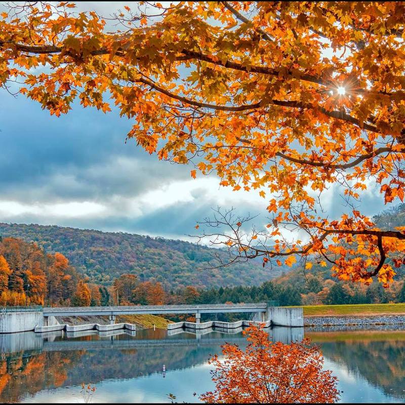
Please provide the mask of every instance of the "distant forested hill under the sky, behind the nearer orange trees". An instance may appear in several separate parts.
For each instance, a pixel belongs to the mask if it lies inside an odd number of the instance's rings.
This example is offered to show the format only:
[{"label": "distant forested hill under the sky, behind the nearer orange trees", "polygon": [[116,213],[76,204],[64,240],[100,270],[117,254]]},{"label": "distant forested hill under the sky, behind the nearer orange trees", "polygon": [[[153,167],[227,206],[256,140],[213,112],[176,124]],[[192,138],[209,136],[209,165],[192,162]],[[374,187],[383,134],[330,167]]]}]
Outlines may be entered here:
[{"label": "distant forested hill under the sky, behind the nearer orange trees", "polygon": [[60,252],[79,272],[88,275],[91,282],[106,286],[128,272],[137,274],[140,281],[159,281],[168,291],[189,285],[216,288],[260,285],[281,274],[281,269],[263,269],[260,261],[197,270],[217,250],[182,240],[6,223],[0,223],[0,236],[34,241],[46,252]]}]

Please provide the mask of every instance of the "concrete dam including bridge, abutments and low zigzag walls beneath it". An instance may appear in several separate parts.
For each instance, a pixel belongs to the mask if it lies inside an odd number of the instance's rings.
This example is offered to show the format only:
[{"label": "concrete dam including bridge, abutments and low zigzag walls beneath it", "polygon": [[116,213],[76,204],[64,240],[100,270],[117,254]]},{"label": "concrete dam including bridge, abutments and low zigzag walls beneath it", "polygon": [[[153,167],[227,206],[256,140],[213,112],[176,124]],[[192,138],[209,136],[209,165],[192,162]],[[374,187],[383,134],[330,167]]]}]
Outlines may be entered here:
[{"label": "concrete dam including bridge, abutments and low zigzag walls beneath it", "polygon": [[[200,322],[201,313],[253,313],[252,320],[237,322]],[[16,332],[53,332],[65,330],[73,332],[77,329],[108,331],[116,329],[135,330],[135,326],[127,323],[116,324],[116,315],[131,314],[194,314],[195,322],[177,322],[168,326],[168,329],[195,329],[208,328],[232,329],[247,326],[251,321],[262,323],[265,327],[303,327],[304,318],[300,307],[274,307],[267,303],[251,304],[201,304],[201,305],[133,305],[109,307],[3,307],[0,308],[0,334]],[[108,315],[110,325],[89,324],[88,326],[60,325],[55,316],[83,316]]]}]

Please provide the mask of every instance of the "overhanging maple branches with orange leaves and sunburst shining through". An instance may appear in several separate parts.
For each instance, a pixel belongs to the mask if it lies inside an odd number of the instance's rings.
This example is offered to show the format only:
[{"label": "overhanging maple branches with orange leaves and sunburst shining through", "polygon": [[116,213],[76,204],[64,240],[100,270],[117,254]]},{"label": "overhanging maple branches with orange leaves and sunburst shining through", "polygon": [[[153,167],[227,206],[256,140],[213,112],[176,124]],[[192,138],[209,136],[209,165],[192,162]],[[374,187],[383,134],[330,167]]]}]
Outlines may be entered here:
[{"label": "overhanging maple branches with orange leaves and sunburst shining through", "polygon": [[[115,104],[149,153],[257,190],[273,216],[264,230],[208,221],[231,227],[216,239],[233,255],[221,265],[316,260],[388,286],[405,233],[354,205],[370,186],[404,198],[404,14],[403,2],[140,2],[111,31],[70,3],[17,4],[0,20],[0,84],[57,116],[75,99]],[[334,184],[353,207],[340,218],[319,215]]]}]

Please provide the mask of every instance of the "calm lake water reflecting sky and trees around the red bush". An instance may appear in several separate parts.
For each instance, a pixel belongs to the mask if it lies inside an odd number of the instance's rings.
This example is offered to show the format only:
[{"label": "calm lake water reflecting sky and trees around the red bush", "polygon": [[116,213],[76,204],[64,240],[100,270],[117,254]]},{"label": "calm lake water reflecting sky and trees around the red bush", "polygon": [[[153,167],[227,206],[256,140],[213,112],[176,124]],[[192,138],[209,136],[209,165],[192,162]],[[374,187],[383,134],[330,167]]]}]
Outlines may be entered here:
[{"label": "calm lake water reflecting sky and trees around the red bush", "polygon": [[[304,334],[321,346],[325,368],[339,378],[342,402],[405,400],[405,331],[270,330],[285,343]],[[198,394],[214,388],[207,359],[225,341],[246,346],[240,331],[0,335],[0,402],[83,403],[82,382],[97,387],[93,402],[170,402],[169,393],[178,402],[198,402]]]}]

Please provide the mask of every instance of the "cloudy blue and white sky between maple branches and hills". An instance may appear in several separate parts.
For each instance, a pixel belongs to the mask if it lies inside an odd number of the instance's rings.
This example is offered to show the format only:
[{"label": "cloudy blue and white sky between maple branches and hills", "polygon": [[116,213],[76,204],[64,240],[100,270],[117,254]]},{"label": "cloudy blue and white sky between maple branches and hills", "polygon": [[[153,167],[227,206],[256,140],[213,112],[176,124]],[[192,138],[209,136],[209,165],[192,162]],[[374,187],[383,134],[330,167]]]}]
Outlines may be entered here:
[{"label": "cloudy blue and white sky between maple branches and hills", "polygon": [[[115,10],[131,2],[117,2]],[[111,3],[81,3],[102,15]],[[78,103],[59,118],[24,96],[0,89],[0,222],[37,223],[103,231],[124,231],[190,239],[196,221],[211,208],[235,207],[238,214],[260,214],[267,223],[267,200],[258,191],[233,192],[219,187],[215,175],[197,174],[193,167],[159,161],[125,143],[131,121],[117,109],[104,114]],[[323,195],[323,208],[345,210],[341,190]],[[373,184],[360,209],[373,215],[384,209]],[[194,231],[194,232],[193,232]]]}]

